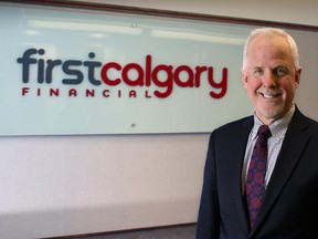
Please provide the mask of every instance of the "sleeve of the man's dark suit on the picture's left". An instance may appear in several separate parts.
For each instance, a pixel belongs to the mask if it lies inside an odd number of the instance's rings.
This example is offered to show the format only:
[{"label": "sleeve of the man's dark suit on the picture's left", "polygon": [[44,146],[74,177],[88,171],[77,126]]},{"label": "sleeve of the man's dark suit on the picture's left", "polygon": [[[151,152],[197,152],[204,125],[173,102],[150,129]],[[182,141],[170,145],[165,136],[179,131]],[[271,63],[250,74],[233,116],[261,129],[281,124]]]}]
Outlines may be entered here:
[{"label": "sleeve of the man's dark suit on the picture's left", "polygon": [[210,137],[204,166],[203,187],[199,208],[195,239],[220,238],[221,217],[216,185],[214,137],[215,133],[213,132]]}]

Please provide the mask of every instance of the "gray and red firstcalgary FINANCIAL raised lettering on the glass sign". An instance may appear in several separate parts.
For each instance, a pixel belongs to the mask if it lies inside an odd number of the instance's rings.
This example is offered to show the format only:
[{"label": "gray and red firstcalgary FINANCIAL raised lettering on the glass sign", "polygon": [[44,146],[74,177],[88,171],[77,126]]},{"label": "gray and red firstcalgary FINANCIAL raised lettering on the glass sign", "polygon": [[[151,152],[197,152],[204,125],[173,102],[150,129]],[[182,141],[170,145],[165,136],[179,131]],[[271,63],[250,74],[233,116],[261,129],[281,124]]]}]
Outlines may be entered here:
[{"label": "gray and red firstcalgary FINANCIAL raised lettering on the glass sign", "polygon": [[[96,89],[102,89],[103,97],[124,97],[123,90],[112,92],[114,86],[123,86],[126,90],[127,97],[138,97],[140,87],[144,90],[144,97],[169,97],[173,89],[189,87],[198,89],[203,81],[209,83],[211,90],[209,95],[212,98],[221,98],[227,91],[227,67],[222,69],[222,77],[214,77],[213,66],[198,65],[167,65],[152,63],[152,55],[145,56],[145,63],[120,64],[118,62],[102,63],[94,61],[96,54],[88,53],[86,61],[45,59],[44,49],[28,49],[17,62],[22,65],[22,96],[78,96],[80,90],[76,87],[87,81],[92,87],[86,89],[82,94],[85,97],[95,97]],[[53,79],[54,72],[62,72],[63,79]],[[31,77],[31,72],[35,72],[35,77]],[[35,82],[34,82],[35,81]],[[61,87],[51,87],[49,92],[43,93],[41,86],[51,85],[53,81],[61,82]],[[32,82],[32,87],[26,86]],[[38,85],[34,87],[34,84]],[[71,86],[67,90],[63,86]],[[155,86],[155,90],[153,87]],[[152,90],[151,90],[152,89]],[[66,91],[66,93],[65,93]],[[83,91],[83,90],[82,90]],[[64,94],[62,93],[64,92]]]}]

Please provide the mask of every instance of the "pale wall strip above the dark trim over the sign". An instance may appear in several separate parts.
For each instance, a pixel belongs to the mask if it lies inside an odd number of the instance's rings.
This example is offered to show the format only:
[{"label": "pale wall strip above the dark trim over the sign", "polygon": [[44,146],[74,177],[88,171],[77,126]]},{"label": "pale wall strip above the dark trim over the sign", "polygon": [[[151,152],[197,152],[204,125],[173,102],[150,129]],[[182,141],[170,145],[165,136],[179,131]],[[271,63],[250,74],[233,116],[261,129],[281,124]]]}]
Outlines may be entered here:
[{"label": "pale wall strip above the dark trim over the sign", "polygon": [[317,25],[315,0],[76,0]]}]

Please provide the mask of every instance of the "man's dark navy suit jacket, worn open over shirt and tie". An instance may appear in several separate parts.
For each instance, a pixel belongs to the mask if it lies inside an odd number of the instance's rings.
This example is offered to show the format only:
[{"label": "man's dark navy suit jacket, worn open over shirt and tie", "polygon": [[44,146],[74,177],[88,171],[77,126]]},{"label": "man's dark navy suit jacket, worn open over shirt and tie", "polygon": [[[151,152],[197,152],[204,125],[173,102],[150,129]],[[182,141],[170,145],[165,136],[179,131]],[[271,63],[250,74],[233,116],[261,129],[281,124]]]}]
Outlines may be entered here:
[{"label": "man's dark navy suit jacket, worn open over shirt and tie", "polygon": [[254,228],[242,196],[242,166],[253,116],[210,137],[197,239],[318,238],[318,123],[292,118]]}]

